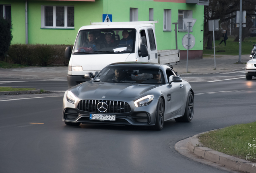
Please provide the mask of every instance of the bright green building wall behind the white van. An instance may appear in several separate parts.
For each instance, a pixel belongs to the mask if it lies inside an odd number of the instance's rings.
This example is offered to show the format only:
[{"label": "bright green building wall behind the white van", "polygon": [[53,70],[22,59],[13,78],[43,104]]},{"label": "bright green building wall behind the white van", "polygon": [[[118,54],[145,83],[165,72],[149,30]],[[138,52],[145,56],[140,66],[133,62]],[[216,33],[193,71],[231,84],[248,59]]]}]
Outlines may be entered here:
[{"label": "bright green building wall behind the white van", "polygon": [[[25,0],[1,0],[0,4],[12,6],[11,44],[25,44]],[[28,43],[29,44],[74,44],[77,32],[81,26],[91,22],[102,22],[102,14],[112,14],[113,22],[128,22],[130,8],[138,8],[138,21],[149,20],[149,8],[154,9],[157,47],[159,50],[175,49],[175,25],[171,32],[163,31],[163,11],[171,9],[171,23],[178,21],[178,10],[192,10],[196,23],[191,34],[196,38],[196,44],[191,50],[203,50],[203,12],[204,6],[174,2],[154,2],[153,0],[95,0],[81,1],[39,1],[28,0]],[[41,28],[41,5],[74,6],[74,29]],[[178,27],[178,26],[177,26]],[[178,32],[178,49],[182,46],[182,38],[187,32]]]}]

